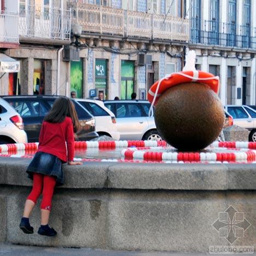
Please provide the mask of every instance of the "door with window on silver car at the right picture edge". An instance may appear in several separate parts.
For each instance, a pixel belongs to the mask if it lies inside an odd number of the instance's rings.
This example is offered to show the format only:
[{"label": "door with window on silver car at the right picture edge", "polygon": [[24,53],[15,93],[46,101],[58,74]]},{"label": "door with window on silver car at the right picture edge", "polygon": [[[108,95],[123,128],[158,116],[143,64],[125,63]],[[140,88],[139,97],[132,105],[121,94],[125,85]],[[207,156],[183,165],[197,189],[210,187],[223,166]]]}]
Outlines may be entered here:
[{"label": "door with window on silver car at the right picture edge", "polygon": [[233,117],[233,124],[246,129],[253,128],[253,119],[242,106],[228,106],[228,113]]}]

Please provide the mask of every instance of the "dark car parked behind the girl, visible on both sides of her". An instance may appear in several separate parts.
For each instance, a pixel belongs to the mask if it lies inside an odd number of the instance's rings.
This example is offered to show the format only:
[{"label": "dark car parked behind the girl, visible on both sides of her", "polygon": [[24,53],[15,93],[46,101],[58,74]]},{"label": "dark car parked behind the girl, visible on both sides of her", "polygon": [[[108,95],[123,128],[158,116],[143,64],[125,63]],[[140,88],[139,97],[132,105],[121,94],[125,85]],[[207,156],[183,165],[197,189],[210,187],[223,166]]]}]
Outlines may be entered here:
[{"label": "dark car parked behind the girl, visible on both sides of her", "polygon": [[[24,120],[24,129],[28,142],[37,142],[44,116],[53,106],[57,96],[28,95],[2,96],[9,102]],[[72,99],[82,130],[77,132],[79,141],[98,137],[95,131],[95,119],[80,103]]]}]

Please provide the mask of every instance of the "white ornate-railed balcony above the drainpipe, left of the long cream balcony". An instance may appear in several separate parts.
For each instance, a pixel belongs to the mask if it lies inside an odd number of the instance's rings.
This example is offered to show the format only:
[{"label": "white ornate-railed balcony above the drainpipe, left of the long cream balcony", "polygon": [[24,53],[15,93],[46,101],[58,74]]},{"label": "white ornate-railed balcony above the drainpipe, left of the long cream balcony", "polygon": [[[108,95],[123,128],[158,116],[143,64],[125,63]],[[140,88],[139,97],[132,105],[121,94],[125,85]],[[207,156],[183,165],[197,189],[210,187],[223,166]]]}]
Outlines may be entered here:
[{"label": "white ornate-railed balcony above the drainpipe, left of the long cream balcony", "polygon": [[20,10],[19,35],[22,38],[70,40],[71,11],[27,5]]}]

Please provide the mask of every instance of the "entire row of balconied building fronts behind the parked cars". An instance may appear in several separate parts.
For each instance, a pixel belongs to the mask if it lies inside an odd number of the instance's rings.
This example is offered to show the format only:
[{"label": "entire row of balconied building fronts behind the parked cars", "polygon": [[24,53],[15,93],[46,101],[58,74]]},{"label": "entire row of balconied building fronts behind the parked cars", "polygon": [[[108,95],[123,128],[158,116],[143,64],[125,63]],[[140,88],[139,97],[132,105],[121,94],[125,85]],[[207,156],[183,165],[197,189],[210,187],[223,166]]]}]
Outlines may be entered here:
[{"label": "entire row of balconied building fronts behind the parked cars", "polygon": [[154,82],[181,71],[188,48],[197,69],[219,75],[223,104],[256,104],[255,1],[0,2],[0,51],[20,61],[20,72],[0,73],[2,95],[145,99]]}]

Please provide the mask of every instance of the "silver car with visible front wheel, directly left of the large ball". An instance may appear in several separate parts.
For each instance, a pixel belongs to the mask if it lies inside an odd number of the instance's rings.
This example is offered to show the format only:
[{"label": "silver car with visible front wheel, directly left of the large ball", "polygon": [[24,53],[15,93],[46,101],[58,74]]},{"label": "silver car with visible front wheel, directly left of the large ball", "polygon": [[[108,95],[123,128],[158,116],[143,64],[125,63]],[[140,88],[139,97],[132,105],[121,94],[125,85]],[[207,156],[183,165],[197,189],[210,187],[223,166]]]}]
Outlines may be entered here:
[{"label": "silver car with visible front wheel, directly left of the large ball", "polygon": [[115,114],[120,139],[161,140],[154,117],[148,117],[150,103],[140,100],[104,101]]}]

